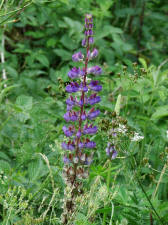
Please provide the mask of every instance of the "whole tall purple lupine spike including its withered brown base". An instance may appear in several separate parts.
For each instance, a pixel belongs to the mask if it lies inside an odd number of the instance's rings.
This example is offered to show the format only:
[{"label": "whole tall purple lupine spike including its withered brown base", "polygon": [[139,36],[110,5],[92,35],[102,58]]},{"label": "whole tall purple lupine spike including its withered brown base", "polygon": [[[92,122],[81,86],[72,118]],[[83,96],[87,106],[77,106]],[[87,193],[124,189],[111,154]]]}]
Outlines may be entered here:
[{"label": "whole tall purple lupine spike including its withered brown base", "polygon": [[64,114],[64,119],[69,125],[63,127],[68,141],[62,143],[65,151],[63,175],[66,183],[63,224],[72,221],[76,196],[83,193],[82,180],[88,177],[89,166],[93,158],[91,149],[96,148],[96,143],[90,140],[90,135],[96,134],[98,130],[94,125],[94,119],[100,114],[100,110],[95,107],[95,104],[101,101],[97,92],[101,91],[102,86],[98,80],[89,81],[88,79],[89,75],[95,77],[102,73],[99,66],[88,66],[89,61],[98,55],[98,50],[92,48],[94,43],[93,18],[90,14],[85,17],[84,34],[82,46],[86,48],[85,55],[81,51],[72,55],[72,60],[83,66],[81,68],[73,67],[68,72],[68,77],[72,81],[66,86],[66,92],[70,95],[66,100],[67,112]]}]

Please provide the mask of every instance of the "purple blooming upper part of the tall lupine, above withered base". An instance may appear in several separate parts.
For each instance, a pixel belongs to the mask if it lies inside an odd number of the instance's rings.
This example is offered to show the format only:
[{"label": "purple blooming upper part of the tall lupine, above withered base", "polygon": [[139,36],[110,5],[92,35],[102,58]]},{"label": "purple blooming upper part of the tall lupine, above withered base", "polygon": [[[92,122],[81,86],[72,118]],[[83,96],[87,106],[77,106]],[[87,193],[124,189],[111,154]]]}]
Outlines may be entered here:
[{"label": "purple blooming upper part of the tall lupine, above withered base", "polygon": [[[93,155],[93,152],[89,153],[88,150],[95,149],[96,143],[91,141],[89,136],[97,133],[98,128],[94,124],[94,120],[100,114],[96,104],[101,101],[98,92],[102,90],[102,86],[95,78],[101,75],[102,69],[99,65],[88,66],[89,61],[98,55],[98,50],[93,48],[93,18],[91,14],[86,14],[85,17],[84,36],[82,46],[86,48],[85,53],[79,51],[72,55],[72,60],[81,66],[72,67],[69,70],[67,75],[71,82],[65,88],[69,97],[66,100],[67,112],[63,117],[68,124],[63,126],[63,132],[69,140],[62,143],[62,148],[65,151],[63,161],[69,166],[73,166],[74,162],[77,166],[81,166],[81,162],[87,165],[92,162],[90,159],[88,163],[88,157]],[[88,77],[91,80],[88,81]],[[88,149],[87,156],[84,152],[85,149]],[[85,160],[82,161],[82,158]],[[68,174],[68,176],[70,175]],[[71,176],[70,180],[73,180]]]}]

